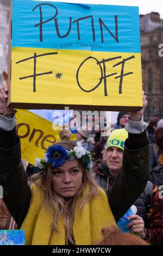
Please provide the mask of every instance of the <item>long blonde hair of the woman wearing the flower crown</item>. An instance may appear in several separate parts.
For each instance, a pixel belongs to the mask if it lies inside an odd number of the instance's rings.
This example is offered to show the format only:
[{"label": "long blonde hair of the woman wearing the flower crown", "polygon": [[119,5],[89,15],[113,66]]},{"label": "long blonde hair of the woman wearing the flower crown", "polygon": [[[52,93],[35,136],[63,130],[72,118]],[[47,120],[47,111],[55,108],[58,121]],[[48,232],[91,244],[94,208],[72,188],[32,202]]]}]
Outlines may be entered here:
[{"label": "long blonde hair of the woman wearing the flower crown", "polygon": [[[71,150],[76,146],[76,144],[72,141],[60,141],[55,143],[54,145],[61,145],[67,150]],[[43,203],[46,205],[47,209],[51,211],[52,214],[55,210],[55,216],[52,223],[52,228],[55,231],[58,231],[58,218],[61,214],[63,215],[63,221],[66,227],[66,245],[68,245],[68,242],[70,242],[72,245],[75,244],[72,233],[72,225],[74,220],[74,209],[76,207],[78,197],[83,193],[83,190],[86,188],[86,186],[89,186],[90,193],[87,194],[84,198],[82,198],[79,202],[79,210],[82,210],[84,204],[86,202],[90,202],[99,193],[99,187],[95,179],[93,178],[92,174],[86,171],[86,168],[80,159],[78,159],[78,161],[83,170],[82,184],[77,194],[70,200],[65,200],[63,197],[59,196],[59,194],[57,194],[53,190],[51,182],[53,168],[52,166],[48,166],[46,170],[44,170],[41,173],[33,175],[30,179],[37,186],[39,186],[41,191],[43,192]]]}]

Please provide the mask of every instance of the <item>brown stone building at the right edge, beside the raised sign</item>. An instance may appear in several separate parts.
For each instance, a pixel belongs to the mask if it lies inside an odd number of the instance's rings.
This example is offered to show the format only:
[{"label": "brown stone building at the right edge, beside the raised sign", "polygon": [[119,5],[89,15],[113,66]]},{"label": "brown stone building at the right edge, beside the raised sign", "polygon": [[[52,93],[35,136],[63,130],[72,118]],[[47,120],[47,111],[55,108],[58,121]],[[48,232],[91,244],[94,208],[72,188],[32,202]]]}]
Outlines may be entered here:
[{"label": "brown stone building at the right edge, beside the raised sign", "polygon": [[140,15],[140,33],[142,81],[148,96],[145,120],[163,118],[163,54],[159,48],[163,44],[163,21],[159,13]]}]

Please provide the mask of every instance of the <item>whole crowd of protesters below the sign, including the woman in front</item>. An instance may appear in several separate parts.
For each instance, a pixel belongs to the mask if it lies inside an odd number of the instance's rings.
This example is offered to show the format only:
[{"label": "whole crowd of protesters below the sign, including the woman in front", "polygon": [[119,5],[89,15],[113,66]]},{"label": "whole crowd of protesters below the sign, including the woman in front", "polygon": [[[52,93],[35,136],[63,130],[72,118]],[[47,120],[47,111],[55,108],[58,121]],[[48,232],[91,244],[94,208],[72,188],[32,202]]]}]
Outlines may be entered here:
[{"label": "whole crowd of protesters below the sign, including the woman in front", "polygon": [[26,175],[3,76],[0,229],[23,229],[26,245],[162,245],[163,119],[143,121],[146,95],[140,111],[118,114],[109,137],[90,141],[81,128],[73,142],[61,131]]}]

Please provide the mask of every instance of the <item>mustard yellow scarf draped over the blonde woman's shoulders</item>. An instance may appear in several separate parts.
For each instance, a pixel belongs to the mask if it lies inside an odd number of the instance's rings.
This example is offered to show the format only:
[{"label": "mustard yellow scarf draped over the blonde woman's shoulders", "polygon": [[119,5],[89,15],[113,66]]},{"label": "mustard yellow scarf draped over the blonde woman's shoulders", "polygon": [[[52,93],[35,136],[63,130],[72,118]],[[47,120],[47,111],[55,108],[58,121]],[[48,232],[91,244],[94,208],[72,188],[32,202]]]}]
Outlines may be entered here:
[{"label": "mustard yellow scarf draped over the blonde woman's shoulders", "polygon": [[[43,193],[33,184],[32,202],[27,216],[22,223],[26,245],[65,245],[66,228],[62,214],[57,221],[57,231],[52,229],[53,215],[43,204]],[[89,186],[83,191],[85,196],[89,193]],[[81,197],[78,198],[77,204]],[[82,210],[74,210],[73,236],[76,245],[92,245],[102,239],[102,228],[116,225],[112,215],[108,198],[105,192],[99,188],[99,194],[90,202],[86,202]],[[55,216],[55,215],[54,215]]]}]

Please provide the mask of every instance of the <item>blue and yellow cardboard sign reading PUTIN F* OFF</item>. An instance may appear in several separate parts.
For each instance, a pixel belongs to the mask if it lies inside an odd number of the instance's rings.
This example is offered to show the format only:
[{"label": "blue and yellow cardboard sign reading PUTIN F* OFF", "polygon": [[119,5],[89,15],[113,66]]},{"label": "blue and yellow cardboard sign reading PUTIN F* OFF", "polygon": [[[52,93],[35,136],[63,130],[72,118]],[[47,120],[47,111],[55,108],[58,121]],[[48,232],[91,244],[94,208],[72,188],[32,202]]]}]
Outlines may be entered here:
[{"label": "blue and yellow cardboard sign reading PUTIN F* OFF", "polygon": [[10,13],[12,107],[142,106],[138,7],[15,0]]}]

